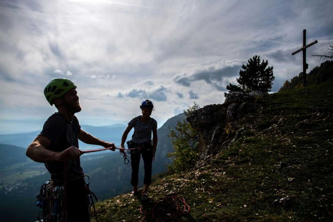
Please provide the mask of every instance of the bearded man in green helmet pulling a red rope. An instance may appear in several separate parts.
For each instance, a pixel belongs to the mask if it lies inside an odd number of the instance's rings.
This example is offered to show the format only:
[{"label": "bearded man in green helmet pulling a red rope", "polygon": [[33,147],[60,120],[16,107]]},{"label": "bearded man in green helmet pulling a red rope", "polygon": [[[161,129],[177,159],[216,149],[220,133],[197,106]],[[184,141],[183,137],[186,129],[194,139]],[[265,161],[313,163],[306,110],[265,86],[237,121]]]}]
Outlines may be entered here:
[{"label": "bearded man in green helmet pulling a red rope", "polygon": [[[44,95],[51,106],[56,106],[58,112],[46,120],[43,130],[27,148],[26,155],[36,162],[45,163],[53,184],[61,186],[67,180],[67,209],[64,209],[66,216],[62,221],[90,221],[87,188],[80,165],[83,151],[79,149],[78,139],[105,148],[113,147],[113,151],[116,146],[81,129],[74,115],[81,111],[81,106],[76,85],[72,81],[65,78],[54,79],[45,87]],[[67,169],[64,169],[65,162],[68,163]],[[64,178],[65,173],[67,178]],[[44,221],[58,219],[45,218]]]}]

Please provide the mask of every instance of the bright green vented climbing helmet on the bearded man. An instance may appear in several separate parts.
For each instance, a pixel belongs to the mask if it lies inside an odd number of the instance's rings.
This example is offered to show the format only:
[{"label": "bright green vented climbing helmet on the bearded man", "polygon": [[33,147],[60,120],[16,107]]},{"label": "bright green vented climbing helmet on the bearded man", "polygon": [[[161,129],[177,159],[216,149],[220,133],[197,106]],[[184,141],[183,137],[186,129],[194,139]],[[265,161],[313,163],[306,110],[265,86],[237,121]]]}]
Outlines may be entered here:
[{"label": "bright green vented climbing helmet on the bearded man", "polygon": [[45,86],[44,95],[46,100],[52,106],[53,99],[62,97],[66,92],[73,88],[76,89],[76,85],[69,79],[53,79]]}]

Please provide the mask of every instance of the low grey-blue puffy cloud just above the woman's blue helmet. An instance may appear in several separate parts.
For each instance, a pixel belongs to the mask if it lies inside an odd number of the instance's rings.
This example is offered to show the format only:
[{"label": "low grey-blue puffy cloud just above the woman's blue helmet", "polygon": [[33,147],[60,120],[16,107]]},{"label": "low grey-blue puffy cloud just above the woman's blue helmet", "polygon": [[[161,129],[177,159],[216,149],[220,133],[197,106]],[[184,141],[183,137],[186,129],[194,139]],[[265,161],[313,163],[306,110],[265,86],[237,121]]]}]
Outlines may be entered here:
[{"label": "low grey-blue puffy cloud just above the woman's blue helmet", "polygon": [[122,98],[122,96],[127,96],[130,98],[142,98],[142,99],[152,99],[156,101],[166,101],[167,96],[166,92],[167,89],[163,85],[158,86],[152,90],[146,89],[131,89],[129,92],[123,94],[121,92],[118,93],[117,97]]}]

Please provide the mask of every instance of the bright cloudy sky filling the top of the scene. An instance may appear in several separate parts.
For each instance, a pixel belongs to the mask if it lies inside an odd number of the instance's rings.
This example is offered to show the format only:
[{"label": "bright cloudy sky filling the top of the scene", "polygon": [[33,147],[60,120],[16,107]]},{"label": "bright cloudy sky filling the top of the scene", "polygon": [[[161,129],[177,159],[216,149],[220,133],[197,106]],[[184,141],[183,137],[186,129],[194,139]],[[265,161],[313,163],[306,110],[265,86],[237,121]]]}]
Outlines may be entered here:
[{"label": "bright cloudy sky filling the top of the scene", "polygon": [[[126,123],[151,99],[159,127],[196,102],[223,103],[226,85],[259,55],[272,92],[333,44],[333,1],[0,1],[0,133],[32,131],[55,112],[53,78],[78,87],[81,124]],[[36,124],[37,125],[36,125]],[[29,125],[30,124],[30,125]]]}]

